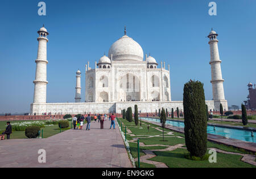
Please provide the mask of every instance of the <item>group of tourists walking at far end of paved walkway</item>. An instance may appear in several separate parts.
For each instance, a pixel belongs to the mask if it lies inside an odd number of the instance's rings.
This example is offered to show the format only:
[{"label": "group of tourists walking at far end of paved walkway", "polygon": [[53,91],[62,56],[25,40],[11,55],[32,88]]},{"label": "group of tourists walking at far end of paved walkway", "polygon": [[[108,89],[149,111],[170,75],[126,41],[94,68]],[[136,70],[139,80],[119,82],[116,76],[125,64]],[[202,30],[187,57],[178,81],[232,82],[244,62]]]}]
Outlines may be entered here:
[{"label": "group of tourists walking at far end of paved walkway", "polygon": [[88,114],[88,116],[85,118],[84,115],[82,115],[81,117],[73,117],[72,118],[72,122],[73,122],[73,126],[74,129],[80,129],[82,130],[82,127],[84,126],[84,120],[86,120],[87,124],[86,124],[86,130],[90,130],[90,123],[94,120],[94,122],[100,122],[101,125],[101,129],[104,129],[104,121],[107,121],[109,119],[109,121],[111,121],[111,125],[109,129],[115,129],[115,118],[116,116],[114,116],[114,114],[112,113],[112,115],[107,115],[107,114],[95,114],[94,117],[92,118],[90,116],[90,114]]}]

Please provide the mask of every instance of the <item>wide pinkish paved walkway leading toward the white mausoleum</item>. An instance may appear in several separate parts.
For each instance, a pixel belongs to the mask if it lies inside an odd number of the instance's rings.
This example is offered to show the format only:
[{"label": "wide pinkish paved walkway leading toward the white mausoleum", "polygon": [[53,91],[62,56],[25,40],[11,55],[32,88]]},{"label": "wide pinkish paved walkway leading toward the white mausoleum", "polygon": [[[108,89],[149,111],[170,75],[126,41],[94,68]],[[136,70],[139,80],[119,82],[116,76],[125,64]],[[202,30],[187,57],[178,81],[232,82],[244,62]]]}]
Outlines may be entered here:
[{"label": "wide pinkish paved walkway leading toward the white mausoleum", "polygon": [[[92,122],[91,130],[68,130],[47,139],[0,141],[0,167],[97,167],[130,168],[119,130],[110,122]],[[46,150],[46,163],[38,163],[38,150]]]}]

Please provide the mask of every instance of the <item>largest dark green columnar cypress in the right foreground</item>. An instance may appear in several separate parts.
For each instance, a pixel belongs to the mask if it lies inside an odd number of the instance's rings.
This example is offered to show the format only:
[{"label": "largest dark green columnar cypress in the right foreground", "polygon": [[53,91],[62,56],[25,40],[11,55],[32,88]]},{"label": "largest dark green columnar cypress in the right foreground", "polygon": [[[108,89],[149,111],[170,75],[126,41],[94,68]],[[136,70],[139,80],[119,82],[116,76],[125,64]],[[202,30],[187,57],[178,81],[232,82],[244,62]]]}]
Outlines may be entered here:
[{"label": "largest dark green columnar cypress in the right foreground", "polygon": [[207,118],[204,85],[190,81],[184,85],[185,144],[191,156],[203,157],[207,152]]}]

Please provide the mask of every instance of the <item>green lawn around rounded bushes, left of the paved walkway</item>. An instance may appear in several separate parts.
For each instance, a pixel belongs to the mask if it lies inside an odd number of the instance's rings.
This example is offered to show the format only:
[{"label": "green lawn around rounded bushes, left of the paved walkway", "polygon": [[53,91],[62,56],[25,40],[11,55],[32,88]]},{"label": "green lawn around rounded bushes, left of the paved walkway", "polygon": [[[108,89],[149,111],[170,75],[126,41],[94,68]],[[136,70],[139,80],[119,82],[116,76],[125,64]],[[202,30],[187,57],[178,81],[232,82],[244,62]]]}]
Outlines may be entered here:
[{"label": "green lawn around rounded bushes, left of the paved walkway", "polygon": [[[44,120],[40,120],[43,121]],[[0,121],[0,131],[2,134],[2,131],[5,130],[5,125],[6,125],[7,121]],[[29,121],[10,121],[11,123],[14,122],[29,122]],[[69,123],[70,125],[70,123]],[[41,131],[43,129],[43,137],[44,138],[48,138],[51,137],[52,135],[56,135],[60,133],[60,128],[58,125],[53,125],[53,126],[46,126],[41,128]],[[66,129],[61,129],[61,132],[70,129],[70,126]],[[42,134],[40,134],[40,137],[42,137]],[[25,131],[13,131],[13,133],[10,136],[11,139],[27,139],[26,135],[25,135]]]}]

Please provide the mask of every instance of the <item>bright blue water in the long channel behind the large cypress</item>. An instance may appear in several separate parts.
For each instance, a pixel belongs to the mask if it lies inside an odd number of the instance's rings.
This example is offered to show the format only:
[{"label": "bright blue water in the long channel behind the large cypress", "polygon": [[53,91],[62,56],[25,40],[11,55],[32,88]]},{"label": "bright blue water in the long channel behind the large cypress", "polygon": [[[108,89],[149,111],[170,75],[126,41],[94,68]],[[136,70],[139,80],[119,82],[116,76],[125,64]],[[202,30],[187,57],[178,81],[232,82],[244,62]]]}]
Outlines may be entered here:
[{"label": "bright blue water in the long channel behind the large cypress", "polygon": [[[141,117],[141,119],[160,123],[160,120],[155,119],[155,118]],[[167,120],[166,124],[184,128],[184,122]],[[217,126],[215,126],[215,130],[214,130],[213,126],[207,126],[207,133],[208,134],[221,135],[221,136],[226,137],[226,138],[233,138],[233,139],[244,140],[244,141],[247,141],[247,142],[256,143],[256,133],[254,133],[254,137],[251,137],[251,132],[247,131],[247,130],[229,129],[229,128],[226,128],[226,127],[217,127]]]}]

